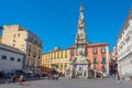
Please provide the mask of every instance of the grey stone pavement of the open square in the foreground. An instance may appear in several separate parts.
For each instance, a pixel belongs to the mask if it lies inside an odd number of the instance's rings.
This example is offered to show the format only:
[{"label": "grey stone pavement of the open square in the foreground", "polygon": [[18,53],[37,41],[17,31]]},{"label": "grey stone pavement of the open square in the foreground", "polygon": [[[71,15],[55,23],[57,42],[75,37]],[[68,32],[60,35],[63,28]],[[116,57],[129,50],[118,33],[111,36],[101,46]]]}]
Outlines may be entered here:
[{"label": "grey stone pavement of the open square in the foreground", "polygon": [[16,84],[0,85],[0,88],[132,88],[132,81],[117,84],[116,79],[59,79],[25,81],[23,86]]}]

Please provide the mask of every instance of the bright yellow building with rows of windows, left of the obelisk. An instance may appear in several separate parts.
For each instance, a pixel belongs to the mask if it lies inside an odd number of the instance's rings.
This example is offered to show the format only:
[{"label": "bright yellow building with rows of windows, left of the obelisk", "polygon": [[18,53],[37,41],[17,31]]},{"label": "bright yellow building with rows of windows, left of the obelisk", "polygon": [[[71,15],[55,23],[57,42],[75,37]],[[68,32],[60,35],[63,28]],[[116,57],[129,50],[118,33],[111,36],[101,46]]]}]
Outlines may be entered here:
[{"label": "bright yellow building with rows of windows, left of the obelisk", "polygon": [[62,51],[56,47],[52,52],[42,55],[42,68],[44,73],[56,69],[58,73],[65,73],[69,69],[69,51]]}]

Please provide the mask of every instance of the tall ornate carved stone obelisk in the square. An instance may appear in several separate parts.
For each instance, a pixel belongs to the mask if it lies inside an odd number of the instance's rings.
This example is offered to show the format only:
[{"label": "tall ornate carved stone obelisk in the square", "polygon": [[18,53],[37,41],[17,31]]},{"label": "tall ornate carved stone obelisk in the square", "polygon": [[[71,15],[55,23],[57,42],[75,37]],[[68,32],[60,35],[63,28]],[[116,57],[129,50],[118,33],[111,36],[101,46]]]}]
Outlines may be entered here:
[{"label": "tall ornate carved stone obelisk in the square", "polygon": [[78,31],[75,41],[76,58],[72,62],[70,72],[77,78],[88,78],[89,61],[82,6],[80,6],[79,13]]}]

